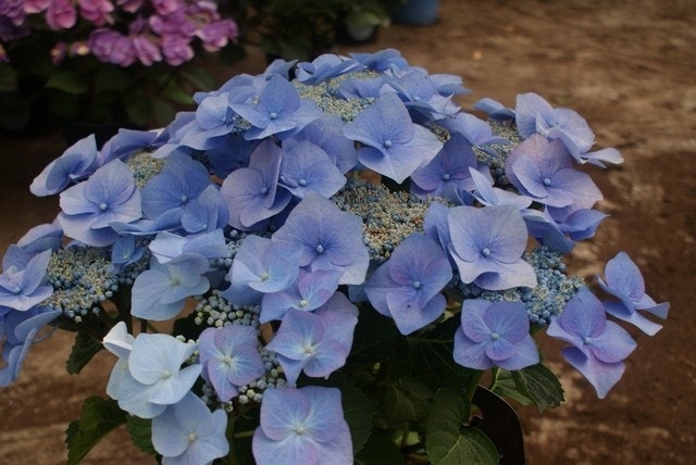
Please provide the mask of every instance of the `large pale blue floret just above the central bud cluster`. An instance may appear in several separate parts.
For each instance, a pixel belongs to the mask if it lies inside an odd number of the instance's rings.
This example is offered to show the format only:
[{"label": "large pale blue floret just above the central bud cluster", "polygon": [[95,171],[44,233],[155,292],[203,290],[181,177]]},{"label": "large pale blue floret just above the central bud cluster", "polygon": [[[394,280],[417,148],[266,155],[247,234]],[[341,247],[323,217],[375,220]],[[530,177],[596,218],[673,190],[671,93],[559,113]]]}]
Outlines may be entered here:
[{"label": "large pale blue floret just above the central bud cluster", "polygon": [[380,97],[347,123],[344,134],[362,143],[358,151],[360,163],[397,183],[403,183],[443,148],[437,136],[411,121],[394,92]]}]

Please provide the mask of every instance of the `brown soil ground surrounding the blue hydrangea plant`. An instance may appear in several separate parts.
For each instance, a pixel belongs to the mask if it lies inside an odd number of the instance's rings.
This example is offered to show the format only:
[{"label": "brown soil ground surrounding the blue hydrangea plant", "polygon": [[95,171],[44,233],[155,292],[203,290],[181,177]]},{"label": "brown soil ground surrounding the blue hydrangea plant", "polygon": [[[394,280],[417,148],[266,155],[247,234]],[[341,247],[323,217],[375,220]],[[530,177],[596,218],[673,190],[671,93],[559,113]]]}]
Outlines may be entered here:
[{"label": "brown soil ground surrounding the blue hydrangea plant", "polygon": [[[597,147],[616,147],[625,162],[589,168],[610,214],[595,239],[573,253],[571,269],[588,280],[623,250],[641,266],[647,292],[671,302],[663,329],[630,329],[638,349],[605,400],[544,342],[567,401],[539,414],[519,410],[527,464],[693,464],[696,451],[696,1],[442,0],[435,25],[391,25],[376,43],[338,52],[399,49],[431,73],[462,76],[473,95],[514,106],[533,91],[569,106],[594,129]],[[249,56],[221,79],[258,73]],[[222,80],[221,80],[222,83]],[[50,222],[55,198],[28,185],[64,150],[60,134],[0,139],[0,250],[32,226]],[[61,464],[69,422],[88,395],[105,395],[114,363],[100,353],[79,376],[64,362],[72,335],[35,345],[12,387],[0,390],[0,463]],[[109,436],[85,464],[151,463],[124,431]]]}]

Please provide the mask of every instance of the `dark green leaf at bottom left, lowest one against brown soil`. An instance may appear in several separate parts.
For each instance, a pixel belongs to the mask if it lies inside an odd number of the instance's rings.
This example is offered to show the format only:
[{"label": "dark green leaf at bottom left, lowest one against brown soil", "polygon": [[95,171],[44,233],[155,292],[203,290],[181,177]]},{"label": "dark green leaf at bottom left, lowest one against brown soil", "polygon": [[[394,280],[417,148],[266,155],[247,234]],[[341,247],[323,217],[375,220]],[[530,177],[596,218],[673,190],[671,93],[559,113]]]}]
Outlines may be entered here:
[{"label": "dark green leaf at bottom left, lowest one against brown soil", "polygon": [[90,397],[85,400],[79,419],[65,431],[67,465],[79,463],[104,436],[126,423],[126,413],[113,400]]}]

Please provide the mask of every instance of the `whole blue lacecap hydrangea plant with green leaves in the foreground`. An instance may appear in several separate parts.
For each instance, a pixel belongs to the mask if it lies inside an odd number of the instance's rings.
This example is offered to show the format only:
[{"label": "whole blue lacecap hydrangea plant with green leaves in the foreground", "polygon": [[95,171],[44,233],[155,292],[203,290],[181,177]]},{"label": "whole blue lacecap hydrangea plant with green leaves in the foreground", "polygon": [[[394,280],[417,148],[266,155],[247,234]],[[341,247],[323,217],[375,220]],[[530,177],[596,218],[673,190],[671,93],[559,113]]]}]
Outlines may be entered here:
[{"label": "whole blue lacecap hydrangea plant with green leaves in the foreground", "polygon": [[47,326],[76,332],[71,373],[114,354],[70,463],[121,424],[164,464],[496,463],[475,394],[561,404],[542,337],[605,398],[621,325],[669,309],[623,252],[597,286],[566,272],[606,216],[579,164],[622,159],[539,96],[478,117],[467,92],[396,50],[322,55],[77,142],[32,185],[60,214],[2,260],[0,384]]}]

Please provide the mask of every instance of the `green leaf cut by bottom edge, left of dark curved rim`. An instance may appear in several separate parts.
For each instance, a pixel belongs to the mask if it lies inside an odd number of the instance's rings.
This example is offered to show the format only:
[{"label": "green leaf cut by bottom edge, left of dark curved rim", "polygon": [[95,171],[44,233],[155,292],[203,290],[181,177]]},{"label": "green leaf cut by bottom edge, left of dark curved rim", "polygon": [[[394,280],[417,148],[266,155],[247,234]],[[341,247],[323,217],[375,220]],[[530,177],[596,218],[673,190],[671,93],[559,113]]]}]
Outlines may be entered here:
[{"label": "green leaf cut by bottom edge, left of dark curved rim", "polygon": [[426,439],[427,455],[433,465],[489,465],[499,462],[498,451],[477,428],[461,433],[435,431]]}]

